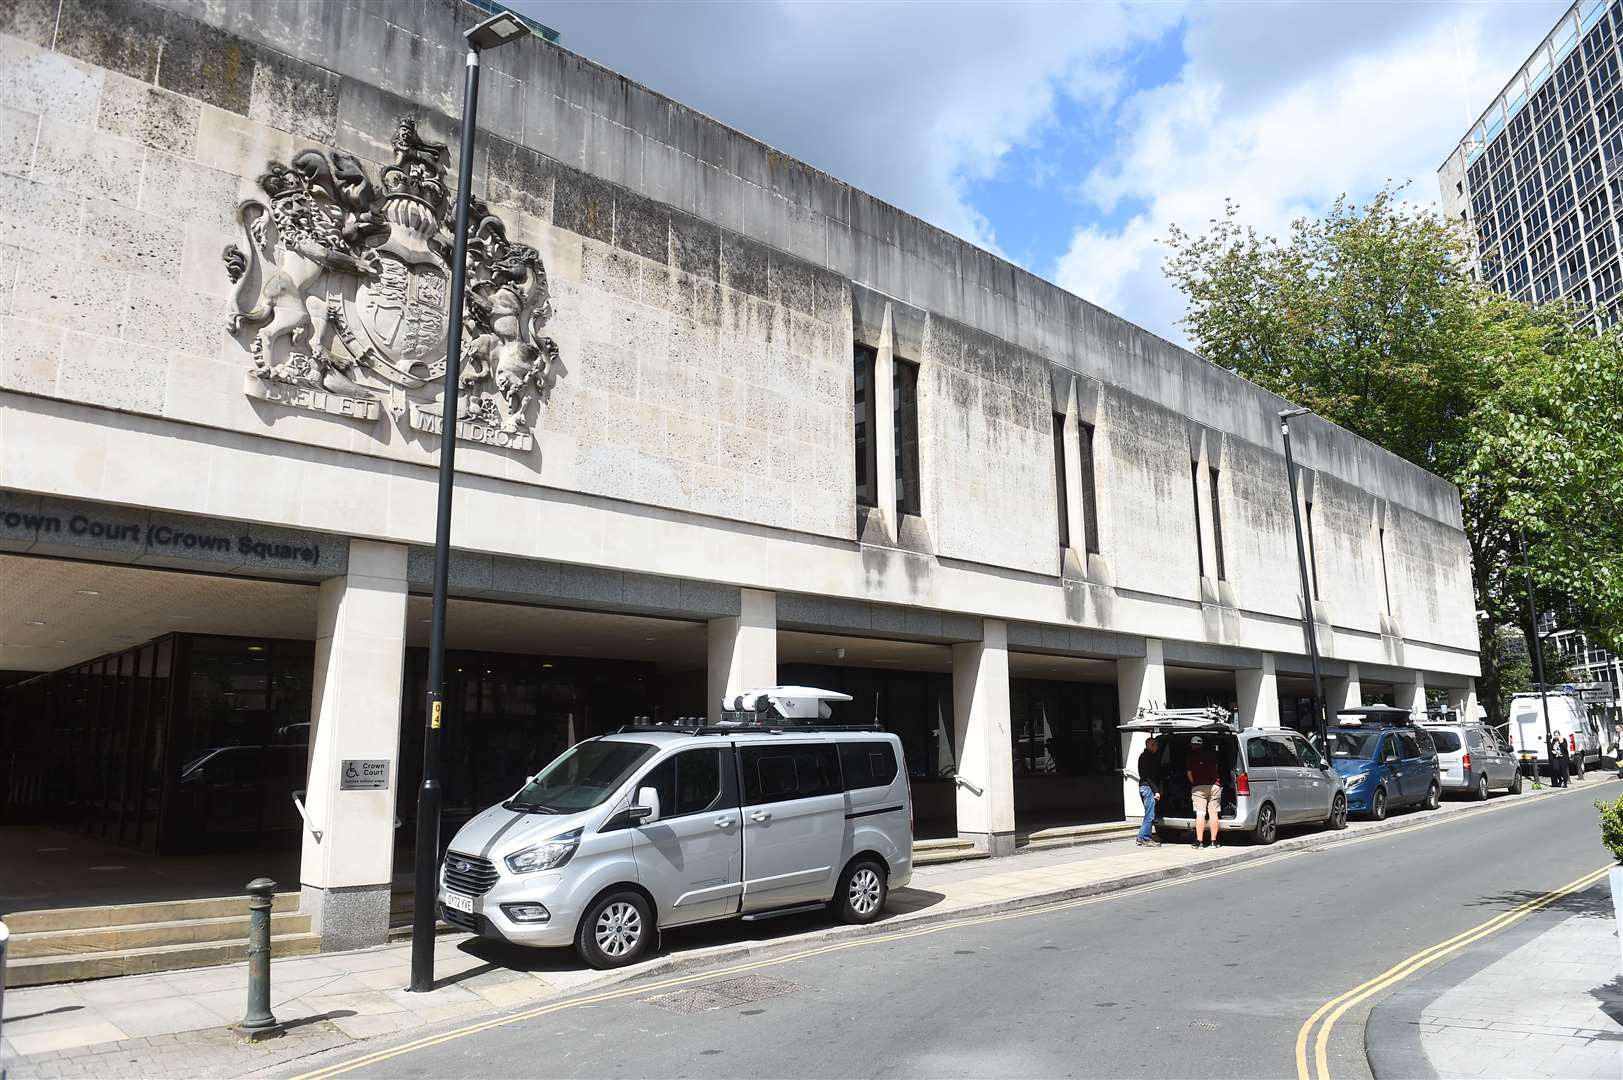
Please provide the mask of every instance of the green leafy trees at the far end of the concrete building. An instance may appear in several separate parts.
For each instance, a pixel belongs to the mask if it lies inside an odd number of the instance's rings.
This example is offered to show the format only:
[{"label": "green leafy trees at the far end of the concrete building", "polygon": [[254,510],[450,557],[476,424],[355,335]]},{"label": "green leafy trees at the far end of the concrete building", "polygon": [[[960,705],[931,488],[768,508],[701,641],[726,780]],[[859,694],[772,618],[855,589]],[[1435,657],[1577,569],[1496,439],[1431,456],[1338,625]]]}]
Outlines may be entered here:
[{"label": "green leafy trees at the far end of the concrete building", "polygon": [[1393,188],[1363,206],[1336,200],[1282,239],[1242,224],[1230,201],[1203,234],[1172,229],[1169,247],[1203,356],[1459,484],[1492,713],[1524,682],[1501,671],[1496,633],[1530,637],[1519,529],[1542,599],[1565,596],[1623,645],[1615,335],[1483,287],[1466,237]]}]

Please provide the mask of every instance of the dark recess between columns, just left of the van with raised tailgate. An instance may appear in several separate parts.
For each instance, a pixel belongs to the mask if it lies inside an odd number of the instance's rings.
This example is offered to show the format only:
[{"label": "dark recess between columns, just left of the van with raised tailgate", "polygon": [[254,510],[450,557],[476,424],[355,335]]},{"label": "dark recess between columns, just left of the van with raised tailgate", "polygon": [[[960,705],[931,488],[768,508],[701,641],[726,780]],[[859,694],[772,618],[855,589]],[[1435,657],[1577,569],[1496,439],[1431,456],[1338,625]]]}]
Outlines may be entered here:
[{"label": "dark recess between columns, just left of the van with raised tailgate", "polygon": [[1016,830],[1121,817],[1117,724],[1113,685],[1010,679]]}]

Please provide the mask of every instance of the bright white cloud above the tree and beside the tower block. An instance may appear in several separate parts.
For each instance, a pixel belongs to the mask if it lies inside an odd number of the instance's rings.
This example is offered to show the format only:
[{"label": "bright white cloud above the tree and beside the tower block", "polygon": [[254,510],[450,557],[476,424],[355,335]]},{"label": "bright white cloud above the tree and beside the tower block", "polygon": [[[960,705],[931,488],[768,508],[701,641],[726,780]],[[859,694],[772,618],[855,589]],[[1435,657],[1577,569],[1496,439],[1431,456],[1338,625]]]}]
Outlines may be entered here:
[{"label": "bright white cloud above the tree and beside the tower block", "polygon": [[1435,201],[1436,166],[1565,8],[1193,10],[1182,73],[1121,106],[1115,153],[1079,184],[1100,214],[1141,210],[1074,229],[1055,281],[1182,339],[1183,297],[1160,268],[1170,224],[1201,231],[1230,197],[1245,221],[1282,232],[1388,180]]}]

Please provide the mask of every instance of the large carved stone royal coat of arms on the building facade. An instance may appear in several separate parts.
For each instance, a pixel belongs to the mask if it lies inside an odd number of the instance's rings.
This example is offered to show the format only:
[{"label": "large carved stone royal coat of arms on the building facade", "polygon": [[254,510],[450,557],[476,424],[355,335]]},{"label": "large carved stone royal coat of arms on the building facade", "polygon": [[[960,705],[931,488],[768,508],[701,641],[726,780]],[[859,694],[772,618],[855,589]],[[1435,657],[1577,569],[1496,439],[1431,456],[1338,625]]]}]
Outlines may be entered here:
[{"label": "large carved stone royal coat of arms on the building facade", "polygon": [[[394,164],[373,184],[344,153],[305,149],[260,177],[265,200],[237,210],[243,247],[226,248],[227,328],[253,356],[248,396],[412,430],[445,430],[438,385],[450,325],[451,193],[443,143],[412,119],[394,128]],[[469,205],[467,287],[456,437],[531,450],[558,346],[540,253],[508,240]],[[380,408],[383,406],[383,408]]]}]

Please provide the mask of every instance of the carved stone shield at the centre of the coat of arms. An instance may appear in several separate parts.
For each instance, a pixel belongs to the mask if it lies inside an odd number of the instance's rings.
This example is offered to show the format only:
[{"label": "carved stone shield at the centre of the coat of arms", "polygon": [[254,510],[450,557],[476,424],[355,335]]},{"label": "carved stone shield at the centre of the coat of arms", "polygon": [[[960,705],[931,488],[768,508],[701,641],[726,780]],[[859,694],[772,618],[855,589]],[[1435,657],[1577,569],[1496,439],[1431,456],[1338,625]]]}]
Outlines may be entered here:
[{"label": "carved stone shield at the centre of the coat of arms", "polygon": [[360,331],[365,364],[388,382],[414,390],[445,375],[446,297],[451,284],[435,261],[407,261],[388,245],[346,307],[347,328]]}]

